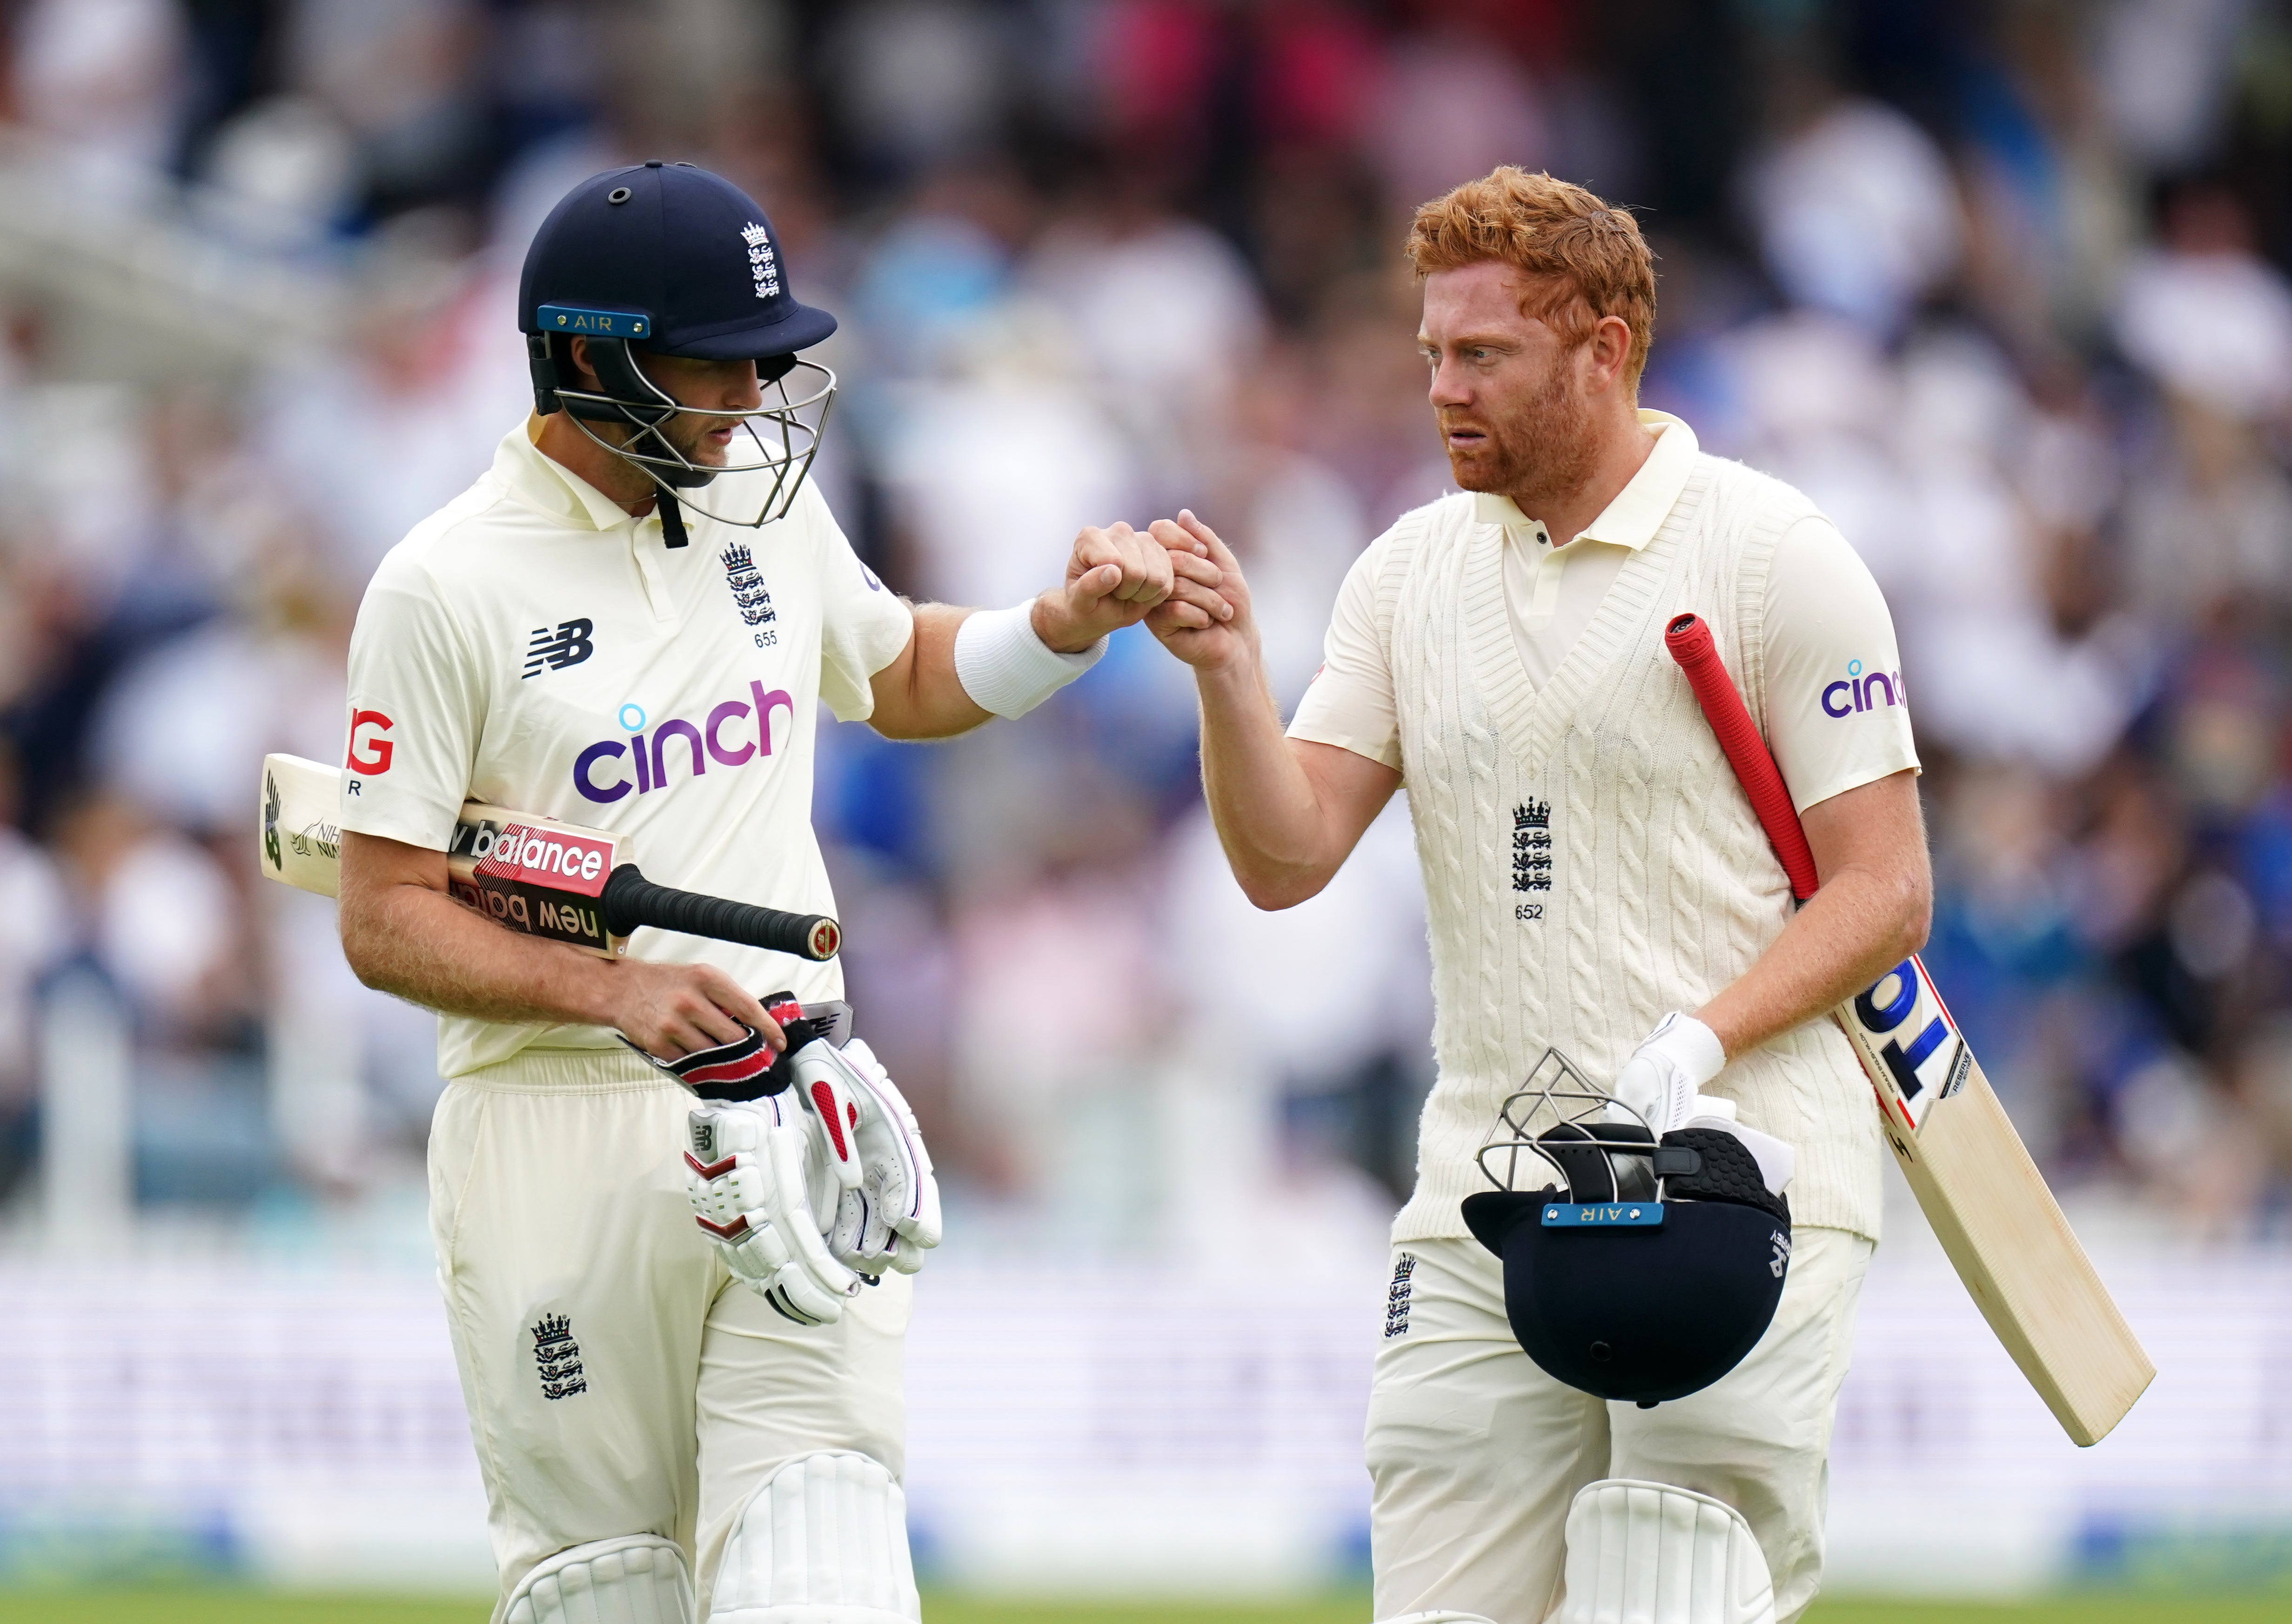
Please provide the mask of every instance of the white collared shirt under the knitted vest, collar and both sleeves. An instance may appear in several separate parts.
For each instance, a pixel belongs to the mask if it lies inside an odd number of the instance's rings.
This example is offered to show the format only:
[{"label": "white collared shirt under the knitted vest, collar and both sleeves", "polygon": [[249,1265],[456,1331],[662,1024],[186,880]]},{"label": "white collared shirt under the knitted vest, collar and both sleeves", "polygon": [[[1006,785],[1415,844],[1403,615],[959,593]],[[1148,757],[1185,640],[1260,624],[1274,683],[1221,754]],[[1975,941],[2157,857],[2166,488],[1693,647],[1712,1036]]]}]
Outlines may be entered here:
[{"label": "white collared shirt under the knitted vest, collar and both sleeves", "polygon": [[[1575,648],[1625,559],[1646,547],[1687,486],[1696,433],[1641,412],[1655,449],[1579,536],[1554,547],[1510,497],[1476,495],[1474,520],[1504,529],[1504,607],[1529,683],[1543,687]],[[1389,534],[1387,534],[1389,536]],[[1377,639],[1377,570],[1368,543],[1336,593],[1322,669],[1290,738],[1336,744],[1400,770],[1394,676]],[[1827,518],[1783,531],[1767,575],[1767,749],[1804,813],[1861,783],[1918,767],[1893,616],[1868,566]]]}]

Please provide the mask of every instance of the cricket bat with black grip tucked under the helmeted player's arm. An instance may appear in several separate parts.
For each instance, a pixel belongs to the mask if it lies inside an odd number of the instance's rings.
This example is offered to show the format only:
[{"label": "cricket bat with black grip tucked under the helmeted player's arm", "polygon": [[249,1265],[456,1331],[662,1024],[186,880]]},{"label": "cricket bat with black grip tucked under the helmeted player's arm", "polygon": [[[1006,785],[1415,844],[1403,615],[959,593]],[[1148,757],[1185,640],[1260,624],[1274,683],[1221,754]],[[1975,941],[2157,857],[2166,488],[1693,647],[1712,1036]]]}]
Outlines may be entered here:
[{"label": "cricket bat with black grip tucked under the helmeted player's arm", "polygon": [[[264,756],[261,868],[300,891],[335,896],[342,770],[303,756]],[[837,921],[784,914],[720,896],[658,886],[621,861],[623,836],[555,818],[463,802],[447,850],[447,889],[479,914],[532,937],[619,957],[642,925],[738,941],[804,960],[841,946]]]}]

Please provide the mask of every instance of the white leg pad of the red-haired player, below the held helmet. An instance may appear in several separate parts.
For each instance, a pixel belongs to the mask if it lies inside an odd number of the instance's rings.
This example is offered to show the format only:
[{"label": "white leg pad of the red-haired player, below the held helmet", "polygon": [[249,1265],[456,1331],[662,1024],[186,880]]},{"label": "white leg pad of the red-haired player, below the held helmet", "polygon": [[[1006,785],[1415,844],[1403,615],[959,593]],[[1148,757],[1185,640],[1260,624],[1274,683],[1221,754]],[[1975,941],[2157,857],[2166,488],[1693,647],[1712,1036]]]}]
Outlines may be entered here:
[{"label": "white leg pad of the red-haired player, below the held helmet", "polygon": [[1726,1500],[1604,1477],[1568,1507],[1568,1597],[1554,1624],[1774,1624],[1774,1578]]}]

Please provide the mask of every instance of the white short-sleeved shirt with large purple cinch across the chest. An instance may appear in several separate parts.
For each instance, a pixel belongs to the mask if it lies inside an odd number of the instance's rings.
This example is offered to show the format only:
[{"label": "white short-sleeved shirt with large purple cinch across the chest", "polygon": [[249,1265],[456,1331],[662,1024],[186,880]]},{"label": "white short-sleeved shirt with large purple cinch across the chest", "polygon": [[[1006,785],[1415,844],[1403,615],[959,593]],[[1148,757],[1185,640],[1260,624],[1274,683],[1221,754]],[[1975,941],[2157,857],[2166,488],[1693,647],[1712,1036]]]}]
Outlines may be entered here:
[{"label": "white short-sleeved shirt with large purple cinch across the chest", "polygon": [[[818,701],[873,710],[869,678],[915,632],[807,481],[786,518],[720,525],[685,506],[688,547],[534,447],[493,467],[383,559],[351,634],[342,827],[447,850],[465,799],[628,836],[649,880],[834,914],[811,834]],[[699,492],[754,511],[747,481]],[[749,992],[843,992],[834,962],[639,930],[630,957],[708,962]],[[520,1049],[610,1049],[605,1026],[438,1017],[438,1070]]]}]

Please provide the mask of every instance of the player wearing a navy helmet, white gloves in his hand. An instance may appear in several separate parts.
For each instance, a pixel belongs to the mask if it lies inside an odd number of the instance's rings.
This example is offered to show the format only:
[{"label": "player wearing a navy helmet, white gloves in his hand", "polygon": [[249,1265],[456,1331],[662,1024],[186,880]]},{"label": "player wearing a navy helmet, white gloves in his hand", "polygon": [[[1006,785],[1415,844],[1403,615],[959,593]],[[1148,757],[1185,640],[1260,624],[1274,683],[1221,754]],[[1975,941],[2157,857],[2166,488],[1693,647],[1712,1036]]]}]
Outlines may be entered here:
[{"label": "player wearing a navy helmet, white gloves in his hand", "polygon": [[[342,795],[348,960],[440,1015],[431,1232],[493,1617],[915,1619],[901,1340],[937,1189],[841,971],[502,930],[447,893],[456,811],[605,827],[665,884],[832,914],[823,699],[898,740],[1015,717],[1217,570],[1112,525],[1011,609],[889,591],[807,479],[837,387],[807,350],[837,323],[706,170],[573,188],[518,318],[534,415],[376,570]],[[777,1065],[775,1015],[807,1086],[727,1086]]]}]

